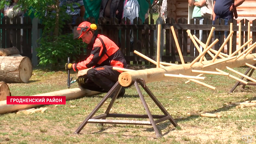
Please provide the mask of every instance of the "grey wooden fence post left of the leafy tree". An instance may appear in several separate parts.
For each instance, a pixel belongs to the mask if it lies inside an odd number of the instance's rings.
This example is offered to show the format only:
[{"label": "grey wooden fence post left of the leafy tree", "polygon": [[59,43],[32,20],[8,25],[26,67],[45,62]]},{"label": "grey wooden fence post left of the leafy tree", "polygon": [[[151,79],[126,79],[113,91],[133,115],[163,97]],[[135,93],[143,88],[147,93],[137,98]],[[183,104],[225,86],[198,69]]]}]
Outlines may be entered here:
[{"label": "grey wooden fence post left of the leafy tree", "polygon": [[36,67],[38,63],[37,59],[37,40],[38,40],[38,18],[32,20],[32,66]]}]

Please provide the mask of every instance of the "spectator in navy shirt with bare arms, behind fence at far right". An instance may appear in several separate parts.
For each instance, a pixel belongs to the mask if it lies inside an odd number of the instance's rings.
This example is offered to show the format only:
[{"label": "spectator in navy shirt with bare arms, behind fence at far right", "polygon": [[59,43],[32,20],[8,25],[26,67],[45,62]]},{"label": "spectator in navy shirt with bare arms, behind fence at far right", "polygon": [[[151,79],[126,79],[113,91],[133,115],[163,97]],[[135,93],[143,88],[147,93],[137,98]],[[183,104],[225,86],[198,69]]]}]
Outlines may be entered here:
[{"label": "spectator in navy shirt with bare arms, behind fence at far right", "polygon": [[[228,25],[228,20],[237,18],[236,7],[241,5],[245,0],[214,0],[213,3],[213,25],[215,25],[215,19],[222,18],[225,20],[225,25]],[[219,19],[221,20],[221,19]],[[228,32],[225,31],[225,38],[228,37]]]}]

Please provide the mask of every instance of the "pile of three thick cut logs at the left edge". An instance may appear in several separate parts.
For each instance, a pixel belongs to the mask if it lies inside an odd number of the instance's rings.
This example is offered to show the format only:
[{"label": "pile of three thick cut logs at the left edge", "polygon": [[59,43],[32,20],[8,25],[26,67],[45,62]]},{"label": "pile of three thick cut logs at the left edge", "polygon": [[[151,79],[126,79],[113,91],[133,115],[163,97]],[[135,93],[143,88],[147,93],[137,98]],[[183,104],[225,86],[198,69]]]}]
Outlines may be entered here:
[{"label": "pile of three thick cut logs at the left edge", "polygon": [[0,101],[11,96],[7,83],[27,83],[32,76],[32,63],[16,47],[0,48]]}]

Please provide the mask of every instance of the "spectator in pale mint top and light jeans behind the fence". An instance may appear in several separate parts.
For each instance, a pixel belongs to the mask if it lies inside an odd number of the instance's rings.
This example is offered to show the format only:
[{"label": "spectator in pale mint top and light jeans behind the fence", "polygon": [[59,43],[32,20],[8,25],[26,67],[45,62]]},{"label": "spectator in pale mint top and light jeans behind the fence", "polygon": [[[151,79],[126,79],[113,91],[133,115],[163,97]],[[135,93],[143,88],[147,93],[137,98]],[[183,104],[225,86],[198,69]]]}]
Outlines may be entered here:
[{"label": "spectator in pale mint top and light jeans behind the fence", "polygon": [[[199,19],[199,24],[202,25],[203,19],[207,17],[206,15],[203,15],[201,12],[201,8],[206,5],[205,0],[188,0],[188,3],[189,3],[189,6],[194,7],[193,13],[192,13],[192,18]],[[194,24],[196,24],[196,19],[194,21]],[[195,32],[195,34],[196,34],[196,32]],[[199,40],[202,41],[202,38],[203,38],[203,31],[199,30]],[[200,49],[201,49],[201,51],[203,51],[203,48],[201,45],[200,45]]]}]

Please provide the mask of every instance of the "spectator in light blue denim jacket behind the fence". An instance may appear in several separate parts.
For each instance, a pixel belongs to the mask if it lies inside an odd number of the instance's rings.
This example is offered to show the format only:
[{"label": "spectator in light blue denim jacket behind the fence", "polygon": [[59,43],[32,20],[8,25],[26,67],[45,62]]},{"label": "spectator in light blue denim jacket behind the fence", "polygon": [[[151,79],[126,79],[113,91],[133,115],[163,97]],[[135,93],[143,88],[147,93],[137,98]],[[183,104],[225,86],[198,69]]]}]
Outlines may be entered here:
[{"label": "spectator in light blue denim jacket behind the fence", "polygon": [[[130,19],[130,24],[133,25],[133,19],[139,17],[140,5],[137,0],[125,0],[123,17]],[[130,52],[133,55],[133,30],[130,31]]]}]

